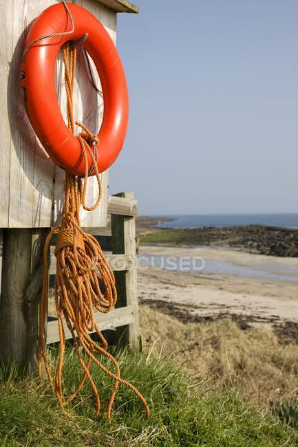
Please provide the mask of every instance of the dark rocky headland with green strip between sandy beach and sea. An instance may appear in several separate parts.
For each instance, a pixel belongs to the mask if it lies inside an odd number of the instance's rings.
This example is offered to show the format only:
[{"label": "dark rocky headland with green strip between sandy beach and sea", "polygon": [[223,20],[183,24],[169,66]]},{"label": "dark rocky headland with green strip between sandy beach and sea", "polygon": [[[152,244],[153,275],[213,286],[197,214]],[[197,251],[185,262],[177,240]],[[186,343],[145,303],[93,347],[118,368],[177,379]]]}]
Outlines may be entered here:
[{"label": "dark rocky headland with green strip between sandy beach and sea", "polygon": [[[144,218],[143,218],[144,219]],[[142,243],[175,246],[225,246],[255,254],[298,257],[298,229],[252,225],[225,228],[156,228],[156,219],[140,220]],[[144,225],[146,223],[146,225]]]}]

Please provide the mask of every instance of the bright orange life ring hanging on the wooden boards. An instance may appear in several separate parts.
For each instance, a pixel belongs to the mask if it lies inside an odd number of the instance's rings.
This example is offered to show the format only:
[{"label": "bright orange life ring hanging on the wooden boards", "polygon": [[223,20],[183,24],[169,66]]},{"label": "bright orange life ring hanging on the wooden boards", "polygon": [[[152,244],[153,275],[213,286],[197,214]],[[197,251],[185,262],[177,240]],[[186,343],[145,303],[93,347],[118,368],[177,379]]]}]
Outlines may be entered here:
[{"label": "bright orange life ring hanging on the wooden boards", "polygon": [[[127,131],[128,94],[123,65],[114,42],[103,25],[81,6],[67,3],[74,21],[74,32],[34,43],[20,66],[21,87],[25,89],[25,108],[32,127],[52,160],[73,175],[83,175],[85,163],[81,144],[67,128],[56,96],[55,64],[61,46],[88,33],[83,47],[92,57],[103,89],[103,122],[98,132],[98,171],[116,160]],[[50,6],[34,21],[25,41],[72,29],[63,3]],[[92,166],[88,155],[89,168]]]}]

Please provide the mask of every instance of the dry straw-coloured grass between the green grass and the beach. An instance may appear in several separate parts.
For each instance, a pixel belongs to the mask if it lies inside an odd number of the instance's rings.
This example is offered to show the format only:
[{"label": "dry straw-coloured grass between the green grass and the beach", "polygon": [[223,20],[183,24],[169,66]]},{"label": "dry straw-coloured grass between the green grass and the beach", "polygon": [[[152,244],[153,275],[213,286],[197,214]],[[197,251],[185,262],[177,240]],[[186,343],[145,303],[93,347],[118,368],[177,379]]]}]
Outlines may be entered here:
[{"label": "dry straw-coloured grass between the green grass and the beach", "polygon": [[147,305],[140,307],[145,345],[169,356],[211,386],[237,386],[260,406],[298,386],[298,347],[281,345],[273,331],[243,331],[231,320],[183,324]]}]

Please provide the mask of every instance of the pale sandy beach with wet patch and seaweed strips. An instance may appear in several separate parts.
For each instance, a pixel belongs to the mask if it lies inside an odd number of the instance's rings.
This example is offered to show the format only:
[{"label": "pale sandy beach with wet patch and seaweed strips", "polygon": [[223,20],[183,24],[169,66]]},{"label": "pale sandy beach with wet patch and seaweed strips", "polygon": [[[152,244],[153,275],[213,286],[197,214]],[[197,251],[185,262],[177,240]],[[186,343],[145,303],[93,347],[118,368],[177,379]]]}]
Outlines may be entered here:
[{"label": "pale sandy beach with wet patch and seaweed strips", "polygon": [[238,274],[222,273],[221,267],[213,272],[179,272],[139,262],[140,302],[167,314],[193,321],[231,316],[242,325],[254,326],[298,323],[297,258],[231,248],[145,245],[140,246],[140,257],[200,257],[206,265],[234,266],[235,272],[240,268]]}]

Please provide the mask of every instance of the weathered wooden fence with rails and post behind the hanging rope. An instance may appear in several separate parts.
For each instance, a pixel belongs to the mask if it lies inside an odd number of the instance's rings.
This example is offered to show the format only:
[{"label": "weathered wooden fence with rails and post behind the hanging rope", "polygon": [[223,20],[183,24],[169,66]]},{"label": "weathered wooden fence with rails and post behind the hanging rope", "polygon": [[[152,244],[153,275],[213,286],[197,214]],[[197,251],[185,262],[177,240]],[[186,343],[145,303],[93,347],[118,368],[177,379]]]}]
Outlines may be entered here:
[{"label": "weathered wooden fence with rails and post behind the hanging rope", "polygon": [[[136,212],[137,202],[133,193],[109,196],[108,213],[111,214],[111,230],[105,228],[95,234],[103,250],[107,252],[111,268],[116,276],[118,301],[107,314],[96,312],[95,320],[100,331],[116,329],[118,345],[138,343],[138,295],[136,281]],[[54,247],[51,250],[50,274],[56,272]],[[66,338],[71,338],[65,327]],[[47,323],[47,343],[59,340],[58,322]]]}]

